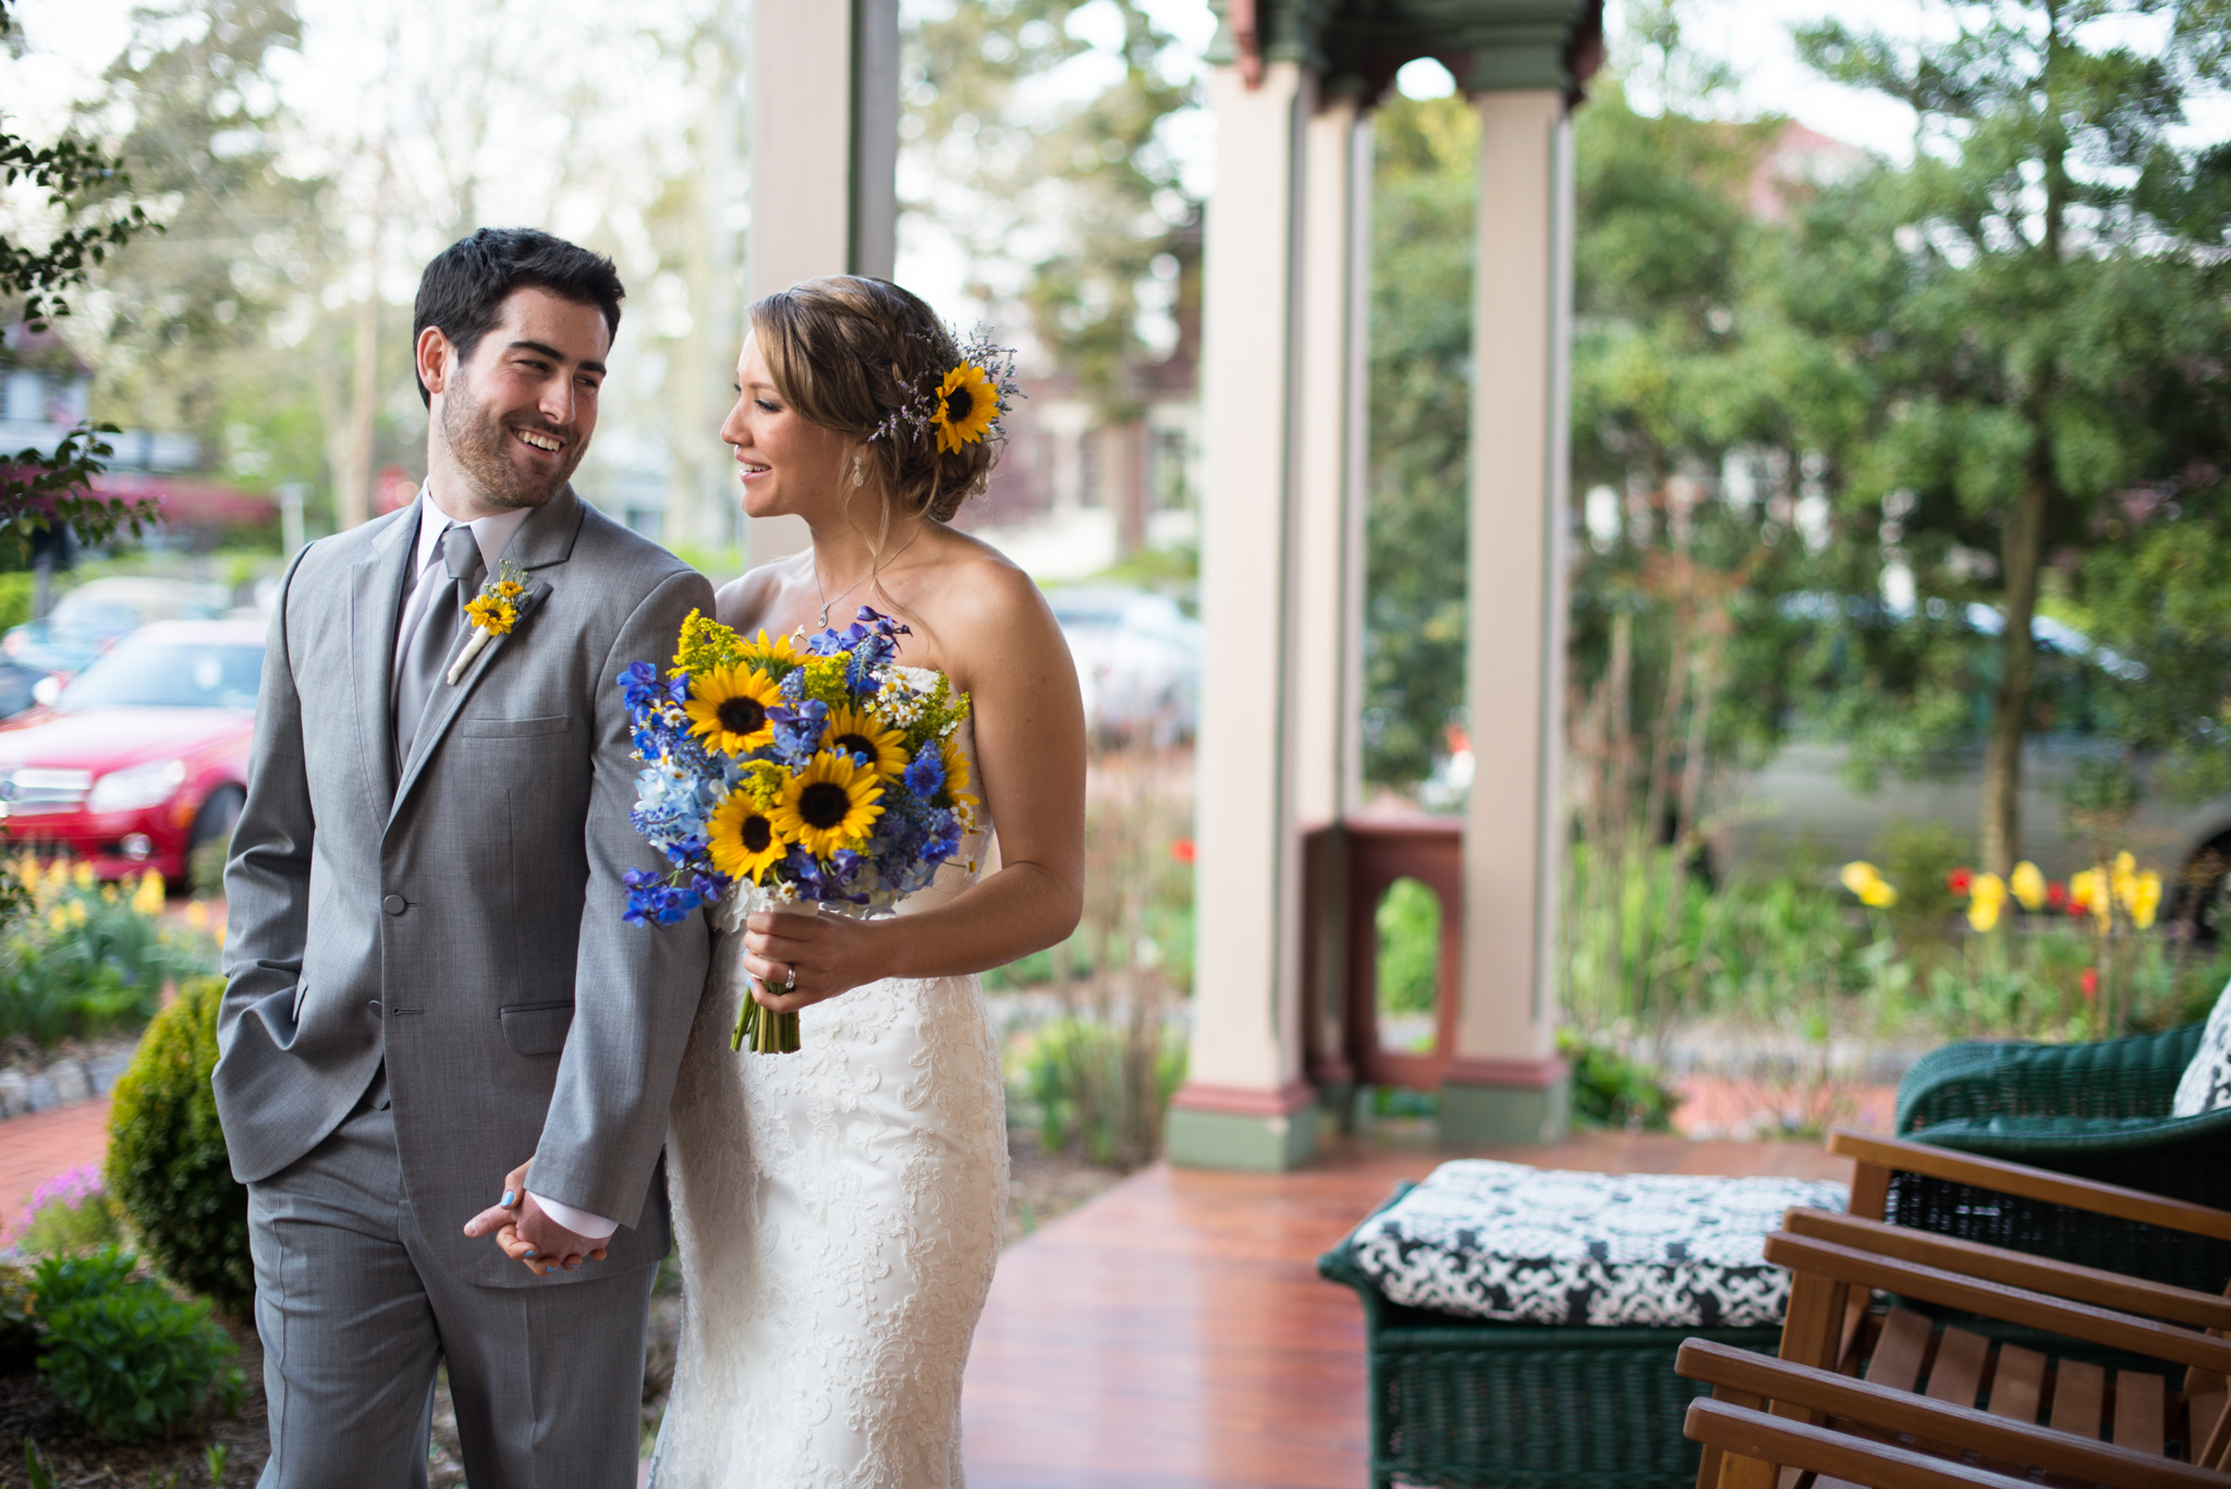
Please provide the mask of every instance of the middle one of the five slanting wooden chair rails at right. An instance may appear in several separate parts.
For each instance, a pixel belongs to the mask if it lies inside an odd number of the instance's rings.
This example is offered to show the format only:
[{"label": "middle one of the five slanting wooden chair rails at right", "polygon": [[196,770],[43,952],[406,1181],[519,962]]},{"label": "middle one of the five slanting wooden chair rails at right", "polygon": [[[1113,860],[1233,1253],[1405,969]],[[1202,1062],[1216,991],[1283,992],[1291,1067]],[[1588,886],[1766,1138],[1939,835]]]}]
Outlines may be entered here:
[{"label": "middle one of the five slanting wooden chair rails at right", "polygon": [[2131,1317],[2128,1313],[2073,1304],[2046,1297],[2044,1293],[2030,1293],[2028,1288],[1963,1277],[1916,1261],[1896,1261],[1852,1246],[1789,1235],[1787,1230],[1769,1235],[1765,1250],[1767,1261],[1787,1266],[1791,1272],[1919,1297],[1921,1301],[1959,1308],[1961,1313],[1981,1313],[1988,1319],[2124,1348],[2148,1360],[2169,1360],[2184,1366],[2195,1364],[2202,1371],[2218,1373],[2231,1371],[2231,1344],[2193,1333],[2191,1328],[2177,1328],[2175,1324],[2157,1324]]}]

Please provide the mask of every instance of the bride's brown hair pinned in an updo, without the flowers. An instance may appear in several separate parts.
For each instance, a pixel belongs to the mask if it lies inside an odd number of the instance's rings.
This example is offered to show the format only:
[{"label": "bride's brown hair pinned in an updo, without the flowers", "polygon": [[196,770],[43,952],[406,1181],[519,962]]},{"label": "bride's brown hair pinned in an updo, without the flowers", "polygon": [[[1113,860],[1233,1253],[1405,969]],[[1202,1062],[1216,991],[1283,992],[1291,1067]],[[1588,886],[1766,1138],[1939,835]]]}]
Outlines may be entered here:
[{"label": "bride's brown hair pinned in an updo, without the flowers", "polygon": [[863,275],[808,279],[754,304],[752,333],[783,402],[810,424],[863,440],[870,480],[881,478],[897,511],[950,522],[984,489],[995,440],[939,451],[935,429],[892,417],[962,359],[919,295]]}]

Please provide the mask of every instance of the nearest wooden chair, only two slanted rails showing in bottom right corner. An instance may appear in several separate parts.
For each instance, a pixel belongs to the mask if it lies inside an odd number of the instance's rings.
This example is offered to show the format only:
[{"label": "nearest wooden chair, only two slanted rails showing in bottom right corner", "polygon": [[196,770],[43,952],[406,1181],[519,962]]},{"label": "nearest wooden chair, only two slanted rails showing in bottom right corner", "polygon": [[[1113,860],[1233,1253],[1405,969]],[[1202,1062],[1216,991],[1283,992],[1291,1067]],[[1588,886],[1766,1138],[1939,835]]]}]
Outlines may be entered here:
[{"label": "nearest wooden chair, only two slanted rails showing in bottom right corner", "polygon": [[[1689,1440],[1704,1447],[1698,1489],[2012,1489],[2030,1485],[2032,1471],[2048,1482],[2108,1489],[2222,1489],[2227,1482],[2171,1458],[1725,1344],[1687,1344],[1675,1368],[1713,1389],[1711,1400],[1689,1406],[1684,1426]],[[1774,1415],[1767,1402],[1800,1406],[1820,1422]]]}]

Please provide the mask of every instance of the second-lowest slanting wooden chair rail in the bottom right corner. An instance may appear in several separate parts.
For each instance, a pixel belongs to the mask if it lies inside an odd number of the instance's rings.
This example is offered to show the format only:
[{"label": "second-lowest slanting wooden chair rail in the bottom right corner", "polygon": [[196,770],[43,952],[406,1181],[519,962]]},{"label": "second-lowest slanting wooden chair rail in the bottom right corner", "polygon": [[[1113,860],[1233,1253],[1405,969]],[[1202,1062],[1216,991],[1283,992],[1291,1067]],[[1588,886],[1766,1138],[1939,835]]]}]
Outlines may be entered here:
[{"label": "second-lowest slanting wooden chair rail in the bottom right corner", "polygon": [[1727,1391],[1742,1391],[1769,1402],[1789,1402],[1807,1411],[1849,1418],[1861,1426],[1903,1433],[1923,1442],[1941,1442],[1966,1451],[2006,1458],[2026,1469],[2046,1469],[2111,1489],[2224,1489],[2222,1473],[2195,1469],[2160,1453],[2115,1447],[2095,1438],[2053,1431],[2032,1422],[1995,1418],[1974,1406],[1952,1406],[1914,1391],[1872,1386],[1834,1371],[1816,1371],[1789,1360],[1769,1360],[1731,1344],[1687,1339],[1673,1360],[1673,1371]]}]

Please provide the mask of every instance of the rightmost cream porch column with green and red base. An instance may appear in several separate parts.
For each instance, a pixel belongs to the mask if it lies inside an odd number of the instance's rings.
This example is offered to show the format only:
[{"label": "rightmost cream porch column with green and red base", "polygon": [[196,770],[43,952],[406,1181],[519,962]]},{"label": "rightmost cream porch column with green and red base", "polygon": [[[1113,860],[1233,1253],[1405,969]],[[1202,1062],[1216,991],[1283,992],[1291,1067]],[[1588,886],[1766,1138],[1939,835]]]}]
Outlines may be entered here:
[{"label": "rightmost cream porch column with green and red base", "polygon": [[1484,92],[1477,107],[1472,788],[1464,817],[1464,1005],[1441,1085],[1441,1136],[1551,1143],[1564,1134],[1568,1094],[1555,1045],[1555,933],[1573,134],[1562,89]]}]

